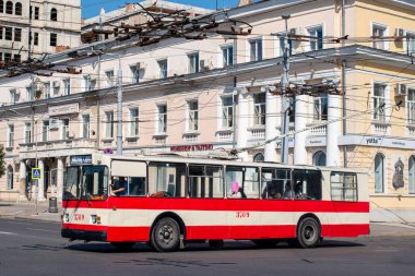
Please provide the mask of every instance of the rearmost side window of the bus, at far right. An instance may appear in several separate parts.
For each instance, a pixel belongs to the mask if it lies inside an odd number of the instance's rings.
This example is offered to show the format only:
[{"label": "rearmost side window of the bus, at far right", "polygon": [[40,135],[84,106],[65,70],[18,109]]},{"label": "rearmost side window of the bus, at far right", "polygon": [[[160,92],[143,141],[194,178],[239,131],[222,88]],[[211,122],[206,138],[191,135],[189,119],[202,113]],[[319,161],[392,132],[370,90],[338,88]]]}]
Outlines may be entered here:
[{"label": "rearmost side window of the bus, at far right", "polygon": [[335,172],[330,176],[332,201],[357,201],[357,176],[352,172]]}]

